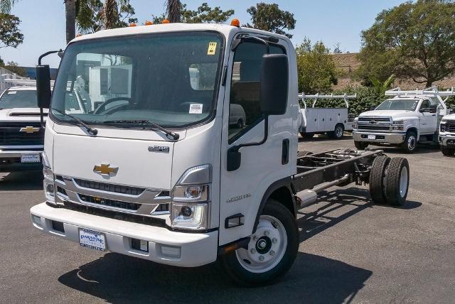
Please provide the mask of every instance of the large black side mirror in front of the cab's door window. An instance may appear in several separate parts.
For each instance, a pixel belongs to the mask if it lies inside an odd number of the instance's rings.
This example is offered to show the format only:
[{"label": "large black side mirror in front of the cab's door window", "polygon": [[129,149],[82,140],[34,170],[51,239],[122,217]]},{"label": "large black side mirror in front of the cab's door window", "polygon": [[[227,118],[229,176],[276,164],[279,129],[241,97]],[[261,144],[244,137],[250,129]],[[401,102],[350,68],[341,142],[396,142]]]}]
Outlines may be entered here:
[{"label": "large black side mirror in front of the cab's door window", "polygon": [[261,112],[264,115],[286,113],[288,91],[287,55],[267,54],[262,56]]}]

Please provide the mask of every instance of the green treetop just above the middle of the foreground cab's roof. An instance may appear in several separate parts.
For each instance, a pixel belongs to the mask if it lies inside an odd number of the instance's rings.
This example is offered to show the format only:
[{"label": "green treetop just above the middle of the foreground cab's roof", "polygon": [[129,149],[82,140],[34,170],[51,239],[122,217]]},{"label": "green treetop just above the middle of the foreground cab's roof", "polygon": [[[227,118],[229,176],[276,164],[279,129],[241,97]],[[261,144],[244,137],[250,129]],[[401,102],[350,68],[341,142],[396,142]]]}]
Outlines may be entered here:
[{"label": "green treetop just above the middle of the foreground cab's roof", "polygon": [[[181,4],[180,12],[180,20],[183,23],[225,23],[234,14],[233,9],[223,11],[220,6],[215,6],[212,9],[205,2],[194,11],[187,9],[186,4]],[[166,18],[165,14],[154,16],[153,22],[156,24],[161,23],[164,18]]]}]

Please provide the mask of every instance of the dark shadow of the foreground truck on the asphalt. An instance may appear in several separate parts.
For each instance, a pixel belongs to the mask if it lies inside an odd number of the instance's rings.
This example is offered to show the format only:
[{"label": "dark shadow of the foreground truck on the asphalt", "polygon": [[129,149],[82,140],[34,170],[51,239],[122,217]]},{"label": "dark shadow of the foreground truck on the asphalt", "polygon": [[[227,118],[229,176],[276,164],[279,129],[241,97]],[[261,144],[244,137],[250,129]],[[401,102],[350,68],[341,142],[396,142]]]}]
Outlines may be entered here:
[{"label": "dark shadow of the foreground truck on the asphalt", "polygon": [[[301,242],[373,207],[368,190],[362,188],[323,192],[320,205],[309,212],[299,210]],[[350,206],[348,212],[341,210],[346,205]],[[420,205],[408,202],[405,209]],[[341,215],[329,215],[331,212]],[[343,303],[353,300],[373,274],[342,261],[299,252],[294,266],[281,281],[259,288],[240,288],[227,279],[222,267],[215,262],[198,268],[178,268],[108,253],[63,274],[58,281],[109,303]]]}]

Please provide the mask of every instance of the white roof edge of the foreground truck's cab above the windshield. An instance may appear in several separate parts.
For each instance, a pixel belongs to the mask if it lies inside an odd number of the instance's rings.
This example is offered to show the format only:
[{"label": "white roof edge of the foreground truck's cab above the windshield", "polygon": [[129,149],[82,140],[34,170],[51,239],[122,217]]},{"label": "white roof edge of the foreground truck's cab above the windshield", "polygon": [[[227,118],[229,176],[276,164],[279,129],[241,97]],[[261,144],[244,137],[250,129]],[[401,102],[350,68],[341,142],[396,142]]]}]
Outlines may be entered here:
[{"label": "white roof edge of the foreground truck's cab above the windshield", "polygon": [[230,26],[228,24],[220,23],[167,23],[167,24],[154,24],[151,26],[129,26],[127,28],[113,28],[110,30],[97,31],[96,33],[82,35],[74,38],[70,41],[73,43],[79,40],[95,39],[95,38],[106,38],[114,36],[129,36],[129,35],[140,35],[146,33],[170,33],[178,31],[218,31],[223,33],[226,37],[230,36],[231,33],[258,33],[268,36],[274,36],[279,39],[289,40],[286,36],[279,35],[277,33],[269,33],[266,31],[260,31],[255,28],[237,28],[236,26]]}]

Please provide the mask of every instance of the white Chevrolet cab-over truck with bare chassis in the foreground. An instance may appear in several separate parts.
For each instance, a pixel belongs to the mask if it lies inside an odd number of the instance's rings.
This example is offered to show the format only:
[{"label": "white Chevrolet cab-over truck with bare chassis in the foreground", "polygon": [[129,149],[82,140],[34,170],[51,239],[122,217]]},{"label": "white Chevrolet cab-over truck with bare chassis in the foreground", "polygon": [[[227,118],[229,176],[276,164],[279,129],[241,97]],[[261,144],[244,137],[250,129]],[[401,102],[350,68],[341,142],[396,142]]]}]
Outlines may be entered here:
[{"label": "white Chevrolet cab-over truck with bare chassis in the foreground", "polygon": [[[232,278],[255,285],[291,267],[299,247],[297,210],[318,192],[370,183],[374,202],[404,204],[405,158],[350,150],[297,156],[295,54],[285,36],[215,24],[75,38],[52,102],[48,66],[36,67],[38,105],[50,109],[46,201],[31,208],[33,226],[161,264],[192,267],[220,258]],[[100,73],[89,72],[97,65],[129,65],[114,82],[131,87],[100,81]],[[235,77],[234,65],[240,65]],[[80,77],[89,91],[102,86],[105,96],[79,114],[67,103]],[[87,103],[97,98],[89,94]],[[244,124],[230,123],[231,104],[244,109]]]}]

